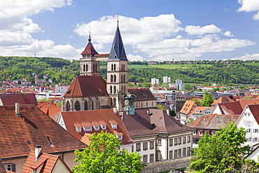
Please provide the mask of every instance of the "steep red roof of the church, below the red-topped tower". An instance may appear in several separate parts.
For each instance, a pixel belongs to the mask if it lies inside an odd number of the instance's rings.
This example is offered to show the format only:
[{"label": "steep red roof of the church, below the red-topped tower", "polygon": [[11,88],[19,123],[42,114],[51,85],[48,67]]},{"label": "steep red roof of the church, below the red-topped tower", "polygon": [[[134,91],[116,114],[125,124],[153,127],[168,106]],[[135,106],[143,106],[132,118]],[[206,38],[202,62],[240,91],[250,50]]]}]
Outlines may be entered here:
[{"label": "steep red roof of the church, below the red-topped tower", "polygon": [[109,96],[102,76],[76,76],[64,97]]}]

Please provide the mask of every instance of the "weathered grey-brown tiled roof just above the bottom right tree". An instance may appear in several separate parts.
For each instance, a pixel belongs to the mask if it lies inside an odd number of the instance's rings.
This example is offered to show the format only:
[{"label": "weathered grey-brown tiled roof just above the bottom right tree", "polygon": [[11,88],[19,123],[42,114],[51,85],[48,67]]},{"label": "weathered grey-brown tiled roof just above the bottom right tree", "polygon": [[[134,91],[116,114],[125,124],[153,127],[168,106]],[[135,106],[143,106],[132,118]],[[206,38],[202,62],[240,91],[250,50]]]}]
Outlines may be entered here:
[{"label": "weathered grey-brown tiled roof just above the bottom right tree", "polygon": [[189,127],[193,128],[202,128],[202,129],[214,129],[217,130],[219,127],[227,127],[228,123],[232,121],[235,123],[239,115],[203,115],[200,118],[197,118],[191,123],[188,123]]}]

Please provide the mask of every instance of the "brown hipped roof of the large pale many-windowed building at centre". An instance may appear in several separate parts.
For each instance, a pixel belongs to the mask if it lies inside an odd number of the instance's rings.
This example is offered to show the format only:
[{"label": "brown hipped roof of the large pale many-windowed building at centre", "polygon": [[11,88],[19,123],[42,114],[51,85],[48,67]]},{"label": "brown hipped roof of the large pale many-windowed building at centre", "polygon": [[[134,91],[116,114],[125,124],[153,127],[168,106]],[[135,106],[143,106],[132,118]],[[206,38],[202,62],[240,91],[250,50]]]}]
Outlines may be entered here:
[{"label": "brown hipped roof of the large pale many-windowed building at centre", "polygon": [[[148,115],[148,111],[150,116]],[[179,121],[172,118],[172,116],[168,116],[167,113],[165,113],[165,111],[162,109],[139,109],[135,111],[134,116],[130,117],[134,118],[134,120],[137,121],[140,125],[158,134],[191,130],[190,127],[182,125]],[[126,126],[127,130],[133,126],[133,124],[132,126]],[[134,127],[137,128],[138,126]]]}]

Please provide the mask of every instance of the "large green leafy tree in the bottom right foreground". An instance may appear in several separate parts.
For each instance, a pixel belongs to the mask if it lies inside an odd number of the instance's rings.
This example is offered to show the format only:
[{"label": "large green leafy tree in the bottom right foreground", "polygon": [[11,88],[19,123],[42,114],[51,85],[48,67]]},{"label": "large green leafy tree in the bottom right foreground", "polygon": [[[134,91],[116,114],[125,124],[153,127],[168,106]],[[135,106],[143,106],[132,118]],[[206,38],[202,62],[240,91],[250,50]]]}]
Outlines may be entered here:
[{"label": "large green leafy tree in the bottom right foreground", "polygon": [[250,146],[243,146],[247,140],[244,128],[237,128],[232,122],[215,135],[204,136],[198,142],[191,158],[190,168],[198,172],[231,172],[241,169],[244,155]]}]

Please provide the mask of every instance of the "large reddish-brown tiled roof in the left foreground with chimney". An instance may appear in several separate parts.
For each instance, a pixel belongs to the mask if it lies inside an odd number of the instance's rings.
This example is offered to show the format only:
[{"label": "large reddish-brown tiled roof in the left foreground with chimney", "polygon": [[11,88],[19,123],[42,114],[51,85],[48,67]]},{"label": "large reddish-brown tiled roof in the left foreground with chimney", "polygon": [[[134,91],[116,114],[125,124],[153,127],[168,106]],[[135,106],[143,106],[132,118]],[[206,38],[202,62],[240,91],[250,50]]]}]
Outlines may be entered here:
[{"label": "large reddish-brown tiled roof in the left foreground with chimney", "polygon": [[32,105],[20,105],[20,116],[15,113],[15,106],[0,106],[0,132],[1,158],[26,156],[36,144],[41,144],[45,153],[85,147]]}]

